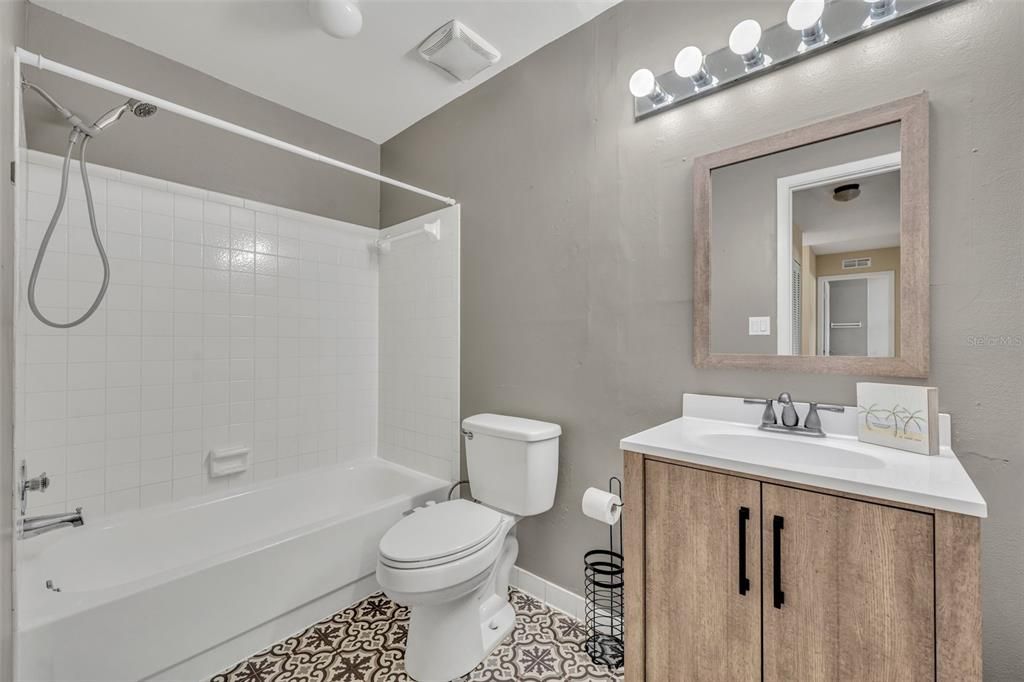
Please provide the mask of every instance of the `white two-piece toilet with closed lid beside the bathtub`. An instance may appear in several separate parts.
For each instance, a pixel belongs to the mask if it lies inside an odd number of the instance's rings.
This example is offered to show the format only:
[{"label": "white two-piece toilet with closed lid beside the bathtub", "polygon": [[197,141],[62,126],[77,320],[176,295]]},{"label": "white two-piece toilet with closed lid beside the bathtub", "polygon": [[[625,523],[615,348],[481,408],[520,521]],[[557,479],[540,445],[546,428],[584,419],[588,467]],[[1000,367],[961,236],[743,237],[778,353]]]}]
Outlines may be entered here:
[{"label": "white two-piece toilet with closed lid beside the bathtub", "polygon": [[417,682],[465,675],[512,631],[515,526],[551,509],[561,427],[503,415],[462,423],[475,502],[428,504],[384,534],[377,581],[411,617],[406,672]]}]

